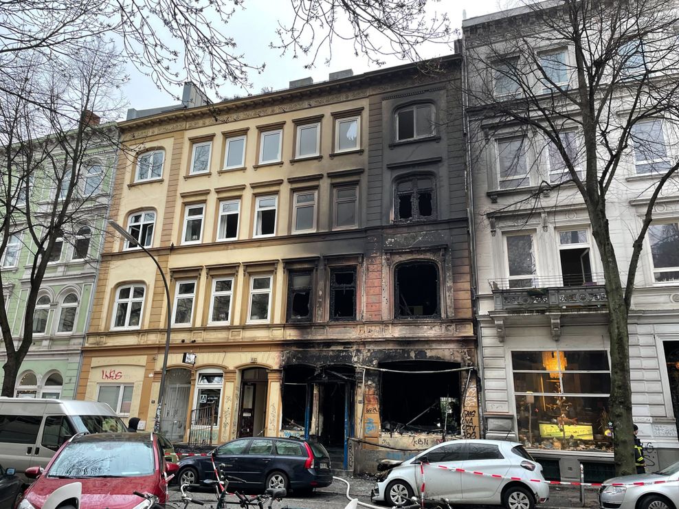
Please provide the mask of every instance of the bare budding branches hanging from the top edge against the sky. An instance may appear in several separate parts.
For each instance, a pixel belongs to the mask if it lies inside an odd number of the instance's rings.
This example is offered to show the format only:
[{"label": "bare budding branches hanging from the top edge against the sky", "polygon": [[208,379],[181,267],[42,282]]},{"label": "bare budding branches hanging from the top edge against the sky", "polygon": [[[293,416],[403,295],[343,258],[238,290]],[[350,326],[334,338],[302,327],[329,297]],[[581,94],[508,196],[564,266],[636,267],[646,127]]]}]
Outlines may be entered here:
[{"label": "bare budding branches hanging from the top edge against the sky", "polygon": [[[425,11],[426,0],[290,2],[291,21],[282,22],[276,47],[311,56],[309,66],[320,49],[331,52],[335,38],[353,38],[357,53],[381,63],[388,54],[416,57],[420,43],[447,42],[451,34],[445,14]],[[228,35],[234,14],[246,7],[243,0],[9,0],[0,10],[0,73],[12,73],[16,52],[69,55],[91,38],[111,36],[158,87],[174,93],[190,80],[219,96],[225,82],[246,88],[248,73],[264,67],[249,63]]]}]

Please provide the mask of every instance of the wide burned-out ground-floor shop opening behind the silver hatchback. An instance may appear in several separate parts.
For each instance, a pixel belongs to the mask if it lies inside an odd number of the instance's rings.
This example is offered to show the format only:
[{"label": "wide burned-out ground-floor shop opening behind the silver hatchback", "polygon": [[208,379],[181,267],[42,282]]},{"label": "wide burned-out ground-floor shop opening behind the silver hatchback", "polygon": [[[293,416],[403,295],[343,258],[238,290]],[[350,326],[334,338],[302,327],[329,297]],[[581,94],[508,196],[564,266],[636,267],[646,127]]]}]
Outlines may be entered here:
[{"label": "wide burned-out ground-floor shop opening behind the silver hatchback", "polygon": [[399,371],[381,373],[379,408],[383,431],[439,434],[460,431],[459,372],[415,373],[451,370],[460,367],[459,364],[398,361],[380,363],[379,367]]}]

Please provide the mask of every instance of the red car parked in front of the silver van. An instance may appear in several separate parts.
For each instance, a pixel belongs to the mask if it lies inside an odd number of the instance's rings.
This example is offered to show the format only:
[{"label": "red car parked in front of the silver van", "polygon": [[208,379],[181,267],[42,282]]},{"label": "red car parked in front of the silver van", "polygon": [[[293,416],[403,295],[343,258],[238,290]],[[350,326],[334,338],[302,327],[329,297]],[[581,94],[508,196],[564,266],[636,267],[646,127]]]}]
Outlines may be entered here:
[{"label": "red car parked in front of the silver van", "polygon": [[167,499],[168,475],[177,465],[166,463],[154,433],[96,433],[80,435],[64,444],[45,471],[34,466],[27,477],[37,477],[17,509],[42,509],[54,490],[82,484],[79,503],[65,501],[79,509],[146,509],[153,501],[133,492],[150,493],[160,504]]}]

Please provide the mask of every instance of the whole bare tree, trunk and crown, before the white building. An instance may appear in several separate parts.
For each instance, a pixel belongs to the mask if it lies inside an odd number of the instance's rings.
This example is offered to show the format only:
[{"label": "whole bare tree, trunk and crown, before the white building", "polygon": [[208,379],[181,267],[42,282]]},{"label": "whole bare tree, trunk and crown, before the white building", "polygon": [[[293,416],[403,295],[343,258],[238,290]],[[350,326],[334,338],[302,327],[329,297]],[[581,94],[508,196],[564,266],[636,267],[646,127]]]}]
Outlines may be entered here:
[{"label": "whole bare tree, trunk and crown, before the white building", "polygon": [[[634,473],[627,326],[654,206],[676,193],[667,136],[679,132],[679,12],[663,0],[556,0],[494,23],[465,30],[473,153],[496,151],[496,210],[586,206],[608,296],[616,471]],[[486,146],[508,132],[512,143]],[[644,212],[621,254],[609,219],[630,199]]]}]

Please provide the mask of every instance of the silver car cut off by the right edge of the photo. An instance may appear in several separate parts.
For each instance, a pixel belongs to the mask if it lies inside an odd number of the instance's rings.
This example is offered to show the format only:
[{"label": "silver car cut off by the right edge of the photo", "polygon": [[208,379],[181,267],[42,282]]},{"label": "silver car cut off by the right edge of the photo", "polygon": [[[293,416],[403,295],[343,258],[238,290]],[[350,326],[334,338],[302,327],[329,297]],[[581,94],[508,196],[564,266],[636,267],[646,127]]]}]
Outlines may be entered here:
[{"label": "silver car cut off by the right edge of the photo", "polygon": [[[635,486],[636,482],[645,484]],[[599,504],[604,509],[679,508],[679,462],[653,474],[623,475],[604,484],[625,485],[603,486],[599,490]]]}]

